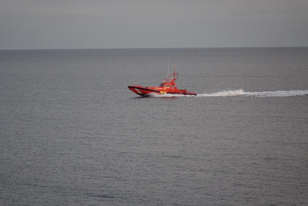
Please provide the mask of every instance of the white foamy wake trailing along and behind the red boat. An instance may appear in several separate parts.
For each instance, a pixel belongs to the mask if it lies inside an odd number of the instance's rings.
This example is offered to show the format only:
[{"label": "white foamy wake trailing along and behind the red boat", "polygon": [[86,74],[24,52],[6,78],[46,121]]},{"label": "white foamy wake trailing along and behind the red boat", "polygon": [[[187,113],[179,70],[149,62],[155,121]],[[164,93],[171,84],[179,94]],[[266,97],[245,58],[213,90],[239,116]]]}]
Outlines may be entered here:
[{"label": "white foamy wake trailing along and behind the red boat", "polygon": [[308,90],[290,90],[290,91],[263,91],[263,92],[245,92],[242,89],[221,91],[212,94],[178,95],[178,94],[156,94],[150,93],[149,97],[227,97],[227,96],[248,96],[248,97],[291,97],[308,95]]}]

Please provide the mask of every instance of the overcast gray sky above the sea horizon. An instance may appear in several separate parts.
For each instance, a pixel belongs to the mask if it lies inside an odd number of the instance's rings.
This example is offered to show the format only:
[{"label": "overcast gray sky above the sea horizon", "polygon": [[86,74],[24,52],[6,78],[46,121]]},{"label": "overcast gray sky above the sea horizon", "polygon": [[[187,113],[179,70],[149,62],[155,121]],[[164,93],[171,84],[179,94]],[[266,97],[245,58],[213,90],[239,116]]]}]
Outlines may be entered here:
[{"label": "overcast gray sky above the sea horizon", "polygon": [[308,46],[308,0],[0,0],[0,49]]}]

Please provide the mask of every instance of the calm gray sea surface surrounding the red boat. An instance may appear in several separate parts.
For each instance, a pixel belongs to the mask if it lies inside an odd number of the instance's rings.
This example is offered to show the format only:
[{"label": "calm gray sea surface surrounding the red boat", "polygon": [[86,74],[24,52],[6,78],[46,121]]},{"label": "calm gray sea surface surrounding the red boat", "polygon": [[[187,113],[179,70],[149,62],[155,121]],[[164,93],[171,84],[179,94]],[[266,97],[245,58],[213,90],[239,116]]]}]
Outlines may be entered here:
[{"label": "calm gray sea surface surrounding the red boat", "polygon": [[[176,64],[179,89],[140,97]],[[0,205],[308,205],[308,48],[0,50]]]}]

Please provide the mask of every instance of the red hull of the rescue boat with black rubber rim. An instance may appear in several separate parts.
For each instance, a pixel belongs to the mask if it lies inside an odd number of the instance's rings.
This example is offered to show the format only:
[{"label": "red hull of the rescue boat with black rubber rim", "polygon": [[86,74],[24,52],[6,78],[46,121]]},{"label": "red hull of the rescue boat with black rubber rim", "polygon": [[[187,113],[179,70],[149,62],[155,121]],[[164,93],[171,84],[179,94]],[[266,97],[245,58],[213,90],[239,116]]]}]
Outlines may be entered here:
[{"label": "red hull of the rescue boat with black rubber rim", "polygon": [[132,92],[136,93],[137,95],[140,96],[146,96],[149,95],[150,93],[154,93],[154,94],[158,94],[158,95],[163,95],[163,94],[178,94],[178,95],[194,95],[197,96],[196,93],[193,92],[189,92],[189,93],[185,93],[182,90],[178,90],[178,91],[165,91],[165,90],[160,90],[159,88],[156,90],[151,89],[151,88],[145,88],[139,85],[135,85],[135,86],[128,86],[128,89],[131,90]]}]

